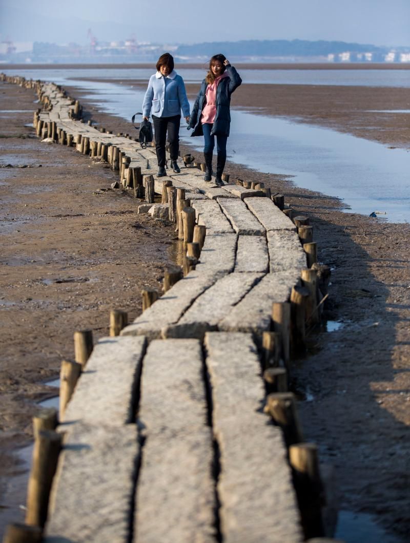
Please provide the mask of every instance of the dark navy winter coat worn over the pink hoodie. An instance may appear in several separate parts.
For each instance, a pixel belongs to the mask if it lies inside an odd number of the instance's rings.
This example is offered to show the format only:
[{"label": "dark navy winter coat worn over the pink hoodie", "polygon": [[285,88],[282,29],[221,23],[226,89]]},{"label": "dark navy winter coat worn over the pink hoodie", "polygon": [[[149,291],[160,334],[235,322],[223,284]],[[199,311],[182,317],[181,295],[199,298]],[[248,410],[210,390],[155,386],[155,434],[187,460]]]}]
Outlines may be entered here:
[{"label": "dark navy winter coat worn over the pink hoodie", "polygon": [[[222,78],[216,90],[216,116],[215,121],[213,121],[211,131],[212,136],[229,136],[229,128],[231,125],[231,113],[229,109],[231,104],[231,94],[242,83],[242,79],[239,77],[239,74],[235,70],[234,66],[228,64],[228,66],[226,66],[226,73],[228,73],[229,77]],[[207,86],[208,84],[204,79],[192,108],[189,126],[190,128],[195,127],[195,129],[191,136],[203,136],[204,134],[202,131],[202,124],[200,123],[200,118],[204,107]]]}]

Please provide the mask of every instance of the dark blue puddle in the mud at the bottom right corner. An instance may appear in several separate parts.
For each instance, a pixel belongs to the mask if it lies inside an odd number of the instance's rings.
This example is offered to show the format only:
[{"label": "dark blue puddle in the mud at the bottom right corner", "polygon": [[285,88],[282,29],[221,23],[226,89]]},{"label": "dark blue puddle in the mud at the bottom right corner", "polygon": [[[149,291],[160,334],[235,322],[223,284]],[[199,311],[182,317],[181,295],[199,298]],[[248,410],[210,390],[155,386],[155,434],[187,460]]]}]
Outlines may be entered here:
[{"label": "dark blue puddle in the mud at the bottom right corner", "polygon": [[345,543],[400,543],[402,539],[388,534],[368,513],[339,511],[335,539]]}]

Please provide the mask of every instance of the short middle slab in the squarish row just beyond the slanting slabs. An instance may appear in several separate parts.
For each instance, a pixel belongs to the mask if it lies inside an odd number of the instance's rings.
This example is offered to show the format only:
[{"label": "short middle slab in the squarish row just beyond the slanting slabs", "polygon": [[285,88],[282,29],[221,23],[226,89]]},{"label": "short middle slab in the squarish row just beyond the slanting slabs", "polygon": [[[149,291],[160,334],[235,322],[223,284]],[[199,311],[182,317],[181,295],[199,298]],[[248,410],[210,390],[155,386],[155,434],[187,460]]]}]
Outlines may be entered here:
[{"label": "short middle slab in the squarish row just beyond the slanting slabs", "polygon": [[238,236],[235,271],[269,271],[265,236]]}]

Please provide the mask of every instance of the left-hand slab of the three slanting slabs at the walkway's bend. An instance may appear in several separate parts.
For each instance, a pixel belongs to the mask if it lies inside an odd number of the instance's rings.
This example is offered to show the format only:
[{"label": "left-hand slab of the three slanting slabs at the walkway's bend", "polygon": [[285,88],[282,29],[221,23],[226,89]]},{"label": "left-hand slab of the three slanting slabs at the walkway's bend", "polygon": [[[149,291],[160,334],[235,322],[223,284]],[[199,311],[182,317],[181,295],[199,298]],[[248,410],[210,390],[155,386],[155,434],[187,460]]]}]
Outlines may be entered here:
[{"label": "left-hand slab of the three slanting slabs at the walkway's bend", "polygon": [[177,323],[192,302],[212,286],[219,276],[212,270],[210,273],[198,273],[196,270],[190,271],[188,275],[175,283],[169,291],[137,317],[133,324],[126,326],[121,331],[121,336],[144,335],[148,339],[159,338],[161,329]]}]

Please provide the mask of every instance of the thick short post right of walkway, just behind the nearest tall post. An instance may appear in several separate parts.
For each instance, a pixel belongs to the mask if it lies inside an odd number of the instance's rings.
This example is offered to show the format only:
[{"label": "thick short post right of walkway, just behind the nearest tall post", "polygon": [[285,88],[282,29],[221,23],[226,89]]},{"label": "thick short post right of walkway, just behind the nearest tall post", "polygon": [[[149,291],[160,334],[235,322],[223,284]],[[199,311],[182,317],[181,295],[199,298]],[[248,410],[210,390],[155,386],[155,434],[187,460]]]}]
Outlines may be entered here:
[{"label": "thick short post right of walkway, just behind the nearest tall post", "polygon": [[269,394],[266,399],[265,411],[282,428],[283,437],[288,447],[295,443],[301,443],[303,438],[294,394],[291,392]]}]

